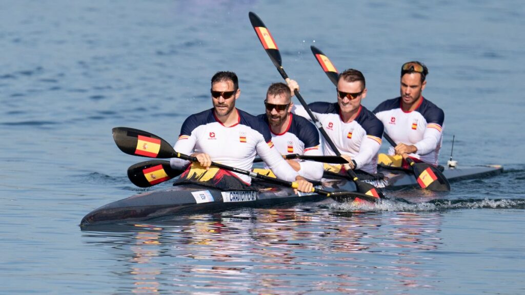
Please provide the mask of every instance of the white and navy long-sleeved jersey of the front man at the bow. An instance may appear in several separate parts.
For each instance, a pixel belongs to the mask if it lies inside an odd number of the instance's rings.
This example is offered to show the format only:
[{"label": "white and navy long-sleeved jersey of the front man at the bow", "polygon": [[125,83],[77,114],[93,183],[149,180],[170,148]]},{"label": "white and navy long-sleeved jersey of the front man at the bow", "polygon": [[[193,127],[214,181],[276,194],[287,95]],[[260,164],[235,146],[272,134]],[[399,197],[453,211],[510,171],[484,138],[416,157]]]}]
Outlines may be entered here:
[{"label": "white and navy long-sleeved jersey of the front man at the bow", "polygon": [[[295,181],[298,173],[282,159],[271,141],[270,129],[264,121],[236,109],[239,121],[226,127],[216,117],[213,109],[190,115],[181,127],[175,151],[183,154],[207,153],[213,162],[250,171],[255,155],[270,167],[274,174],[286,181]],[[190,162],[171,159],[173,168],[184,168]],[[235,173],[250,184],[248,175]]]}]

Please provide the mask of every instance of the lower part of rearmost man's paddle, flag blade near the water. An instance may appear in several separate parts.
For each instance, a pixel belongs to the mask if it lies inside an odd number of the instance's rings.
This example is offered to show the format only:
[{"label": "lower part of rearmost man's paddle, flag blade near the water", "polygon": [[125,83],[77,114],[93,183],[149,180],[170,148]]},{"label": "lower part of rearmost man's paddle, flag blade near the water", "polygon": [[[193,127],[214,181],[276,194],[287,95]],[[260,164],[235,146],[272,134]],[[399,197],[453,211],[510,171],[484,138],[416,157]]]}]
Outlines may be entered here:
[{"label": "lower part of rearmost man's paddle, flag blade near the water", "polygon": [[[396,146],[397,144],[386,134],[383,133],[383,137],[392,145]],[[439,171],[438,168],[424,163],[416,163],[411,159],[407,154],[403,155],[403,158],[412,168],[416,181],[422,188],[427,188],[430,191],[437,192],[448,192],[450,191],[450,183],[448,183],[447,178],[443,175],[443,172]]]}]

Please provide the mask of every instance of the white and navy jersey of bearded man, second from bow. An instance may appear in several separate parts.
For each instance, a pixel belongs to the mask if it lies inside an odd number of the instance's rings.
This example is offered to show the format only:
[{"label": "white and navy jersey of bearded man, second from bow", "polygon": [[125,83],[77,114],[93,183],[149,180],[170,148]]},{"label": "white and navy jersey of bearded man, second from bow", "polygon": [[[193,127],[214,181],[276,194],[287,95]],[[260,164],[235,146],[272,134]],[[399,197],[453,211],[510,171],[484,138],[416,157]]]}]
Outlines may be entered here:
[{"label": "white and navy jersey of bearded man, second from bow", "polygon": [[[269,125],[266,114],[258,117]],[[282,155],[299,154],[322,156],[319,144],[319,132],[316,127],[308,120],[290,114],[290,121],[285,132],[275,134],[271,131],[271,141],[274,142],[277,151]],[[323,176],[323,163],[314,161],[299,161],[301,169],[299,175],[313,181],[320,181]]]}]

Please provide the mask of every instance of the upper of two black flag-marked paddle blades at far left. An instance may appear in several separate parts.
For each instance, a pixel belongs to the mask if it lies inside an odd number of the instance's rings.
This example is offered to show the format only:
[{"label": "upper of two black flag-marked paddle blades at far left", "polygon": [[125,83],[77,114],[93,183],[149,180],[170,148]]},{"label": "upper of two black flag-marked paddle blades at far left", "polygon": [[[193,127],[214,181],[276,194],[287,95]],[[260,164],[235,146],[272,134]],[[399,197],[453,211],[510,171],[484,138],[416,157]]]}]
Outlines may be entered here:
[{"label": "upper of two black flag-marked paddle blades at far left", "polygon": [[113,128],[113,140],[122,152],[129,155],[161,159],[176,157],[169,143],[146,131],[116,127]]}]

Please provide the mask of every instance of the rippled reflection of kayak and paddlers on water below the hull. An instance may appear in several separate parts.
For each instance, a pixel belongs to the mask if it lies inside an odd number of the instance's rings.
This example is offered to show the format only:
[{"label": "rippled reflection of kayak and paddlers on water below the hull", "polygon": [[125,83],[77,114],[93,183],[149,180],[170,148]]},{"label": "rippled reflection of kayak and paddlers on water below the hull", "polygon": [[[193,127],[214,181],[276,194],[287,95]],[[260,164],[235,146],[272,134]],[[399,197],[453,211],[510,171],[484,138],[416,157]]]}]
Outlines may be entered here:
[{"label": "rippled reflection of kayak and paddlers on water below the hull", "polygon": [[[117,258],[121,265],[111,273],[133,280],[124,292],[402,292],[434,288],[432,259],[424,253],[439,248],[440,219],[254,209],[98,227],[84,240]],[[374,279],[386,283],[376,287]]]}]

